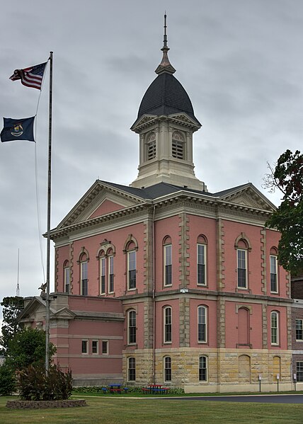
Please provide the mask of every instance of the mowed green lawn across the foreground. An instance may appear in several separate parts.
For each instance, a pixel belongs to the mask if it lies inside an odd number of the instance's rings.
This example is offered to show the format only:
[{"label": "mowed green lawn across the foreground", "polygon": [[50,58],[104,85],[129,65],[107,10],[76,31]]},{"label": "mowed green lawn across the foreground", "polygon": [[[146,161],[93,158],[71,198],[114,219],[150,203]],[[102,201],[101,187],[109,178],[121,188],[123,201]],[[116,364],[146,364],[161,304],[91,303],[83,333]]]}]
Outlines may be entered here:
[{"label": "mowed green lawn across the foreground", "polygon": [[[84,408],[10,410],[0,397],[1,424],[303,423],[299,404],[86,397]],[[77,398],[79,399],[79,398]]]}]

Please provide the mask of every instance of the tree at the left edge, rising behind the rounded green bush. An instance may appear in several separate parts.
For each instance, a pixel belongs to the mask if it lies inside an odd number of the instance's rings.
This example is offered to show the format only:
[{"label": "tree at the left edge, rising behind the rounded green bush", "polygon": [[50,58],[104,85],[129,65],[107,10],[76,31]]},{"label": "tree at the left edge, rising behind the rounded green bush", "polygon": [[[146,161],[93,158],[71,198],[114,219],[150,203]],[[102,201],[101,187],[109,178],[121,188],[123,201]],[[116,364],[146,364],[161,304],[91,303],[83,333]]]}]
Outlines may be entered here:
[{"label": "tree at the left edge, rising behind the rounded green bush", "polygon": [[24,308],[23,297],[4,297],[1,302],[3,306],[3,324],[2,324],[2,336],[0,337],[0,353],[6,356],[6,350],[8,347],[8,340],[11,340],[13,335],[21,330],[21,325],[18,323],[18,314]]}]

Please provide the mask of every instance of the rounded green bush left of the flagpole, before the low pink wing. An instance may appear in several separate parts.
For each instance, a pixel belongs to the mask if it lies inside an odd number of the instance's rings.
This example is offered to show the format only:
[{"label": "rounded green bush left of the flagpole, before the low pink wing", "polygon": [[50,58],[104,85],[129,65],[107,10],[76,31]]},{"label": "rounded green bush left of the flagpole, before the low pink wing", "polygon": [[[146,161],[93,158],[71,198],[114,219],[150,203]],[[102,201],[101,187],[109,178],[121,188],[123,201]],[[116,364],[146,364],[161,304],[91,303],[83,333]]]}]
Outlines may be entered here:
[{"label": "rounded green bush left of the flagpole, before the low pink wing", "polygon": [[[49,357],[56,352],[55,345],[49,345]],[[45,361],[45,331],[38,328],[24,328],[8,340],[6,362],[13,369],[37,365]]]}]

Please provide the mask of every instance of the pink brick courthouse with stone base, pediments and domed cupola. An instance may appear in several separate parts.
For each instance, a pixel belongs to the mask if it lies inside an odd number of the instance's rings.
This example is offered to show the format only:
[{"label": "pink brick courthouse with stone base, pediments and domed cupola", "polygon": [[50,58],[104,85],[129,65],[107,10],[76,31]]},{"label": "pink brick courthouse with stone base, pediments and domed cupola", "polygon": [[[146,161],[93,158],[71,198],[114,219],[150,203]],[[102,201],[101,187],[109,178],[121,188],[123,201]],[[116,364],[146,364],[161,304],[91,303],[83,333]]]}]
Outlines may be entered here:
[{"label": "pink brick courthouse with stone base, pediments and domed cupola", "polygon": [[[161,50],[131,127],[137,179],[95,181],[51,231],[55,360],[75,384],[290,389],[290,277],[265,229],[275,207],[251,183],[209,193],[195,177],[201,125],[166,37]],[[26,299],[21,320],[44,326],[44,299]]]}]

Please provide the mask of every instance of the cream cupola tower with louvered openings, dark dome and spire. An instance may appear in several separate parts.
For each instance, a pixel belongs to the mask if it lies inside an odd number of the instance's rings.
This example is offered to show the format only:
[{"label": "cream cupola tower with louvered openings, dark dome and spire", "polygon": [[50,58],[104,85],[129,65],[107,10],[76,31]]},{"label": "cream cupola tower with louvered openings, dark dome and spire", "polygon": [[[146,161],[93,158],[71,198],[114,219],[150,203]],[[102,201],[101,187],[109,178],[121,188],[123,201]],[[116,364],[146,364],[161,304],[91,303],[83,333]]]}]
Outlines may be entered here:
[{"label": "cream cupola tower with louvered openings, dark dome and spire", "polygon": [[139,173],[132,187],[170,183],[207,191],[195,177],[193,133],[201,127],[195,118],[188,93],[173,76],[176,69],[168,59],[166,15],[164,15],[163,57],[156,79],[147,88],[137,120],[131,130],[139,134]]}]

